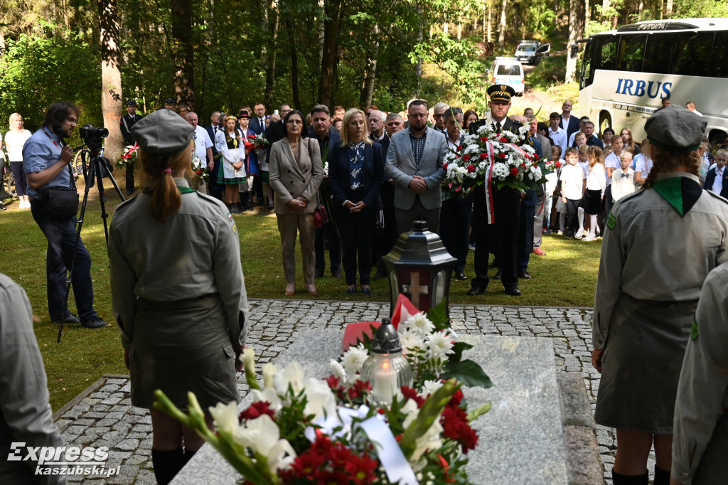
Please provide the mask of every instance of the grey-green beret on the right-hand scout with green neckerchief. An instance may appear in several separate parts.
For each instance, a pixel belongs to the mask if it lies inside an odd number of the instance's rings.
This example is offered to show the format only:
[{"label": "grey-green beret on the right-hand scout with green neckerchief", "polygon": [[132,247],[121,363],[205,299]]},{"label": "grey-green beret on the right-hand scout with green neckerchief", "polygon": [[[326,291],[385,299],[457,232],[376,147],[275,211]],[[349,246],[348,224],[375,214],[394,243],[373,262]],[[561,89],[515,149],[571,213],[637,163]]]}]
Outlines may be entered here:
[{"label": "grey-green beret on the right-hand scout with green neckerchief", "polygon": [[644,130],[649,143],[668,151],[691,151],[700,148],[708,122],[689,109],[672,104],[647,119]]}]

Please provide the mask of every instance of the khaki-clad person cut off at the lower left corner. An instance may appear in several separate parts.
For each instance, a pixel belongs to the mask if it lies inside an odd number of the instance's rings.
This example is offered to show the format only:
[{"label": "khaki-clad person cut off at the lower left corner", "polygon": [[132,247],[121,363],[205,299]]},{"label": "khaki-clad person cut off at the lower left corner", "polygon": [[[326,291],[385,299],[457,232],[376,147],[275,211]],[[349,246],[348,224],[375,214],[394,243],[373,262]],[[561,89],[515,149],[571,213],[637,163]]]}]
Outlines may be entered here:
[{"label": "khaki-clad person cut off at the lower left corner", "polygon": [[[41,352],[33,333],[28,296],[0,274],[0,484],[66,484],[65,475],[33,476],[38,460],[28,446],[63,446],[53,422]],[[11,443],[23,443],[11,450]],[[63,460],[60,460],[63,461]],[[55,468],[55,467],[54,467]],[[46,468],[42,468],[45,470]]]}]

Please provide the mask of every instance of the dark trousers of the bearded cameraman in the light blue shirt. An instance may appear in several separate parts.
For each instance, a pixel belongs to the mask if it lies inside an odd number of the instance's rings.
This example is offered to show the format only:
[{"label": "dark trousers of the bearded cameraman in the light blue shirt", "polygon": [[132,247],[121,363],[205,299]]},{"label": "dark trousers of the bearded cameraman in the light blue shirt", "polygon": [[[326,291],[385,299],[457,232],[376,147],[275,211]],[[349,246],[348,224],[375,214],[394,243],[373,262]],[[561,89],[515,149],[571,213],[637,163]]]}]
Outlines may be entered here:
[{"label": "dark trousers of the bearded cameraman in the light blue shirt", "polygon": [[71,273],[71,283],[76,298],[76,309],[82,320],[90,320],[96,316],[93,309],[91,256],[82,240],[79,240],[78,248],[75,247],[75,218],[66,220],[51,218],[46,212],[46,202],[40,200],[31,200],[31,213],[48,240],[46,282],[51,321],[60,321],[68,315],[68,310],[66,315],[63,314],[63,309],[66,307],[66,271],[74,259],[74,249],[76,262]]}]

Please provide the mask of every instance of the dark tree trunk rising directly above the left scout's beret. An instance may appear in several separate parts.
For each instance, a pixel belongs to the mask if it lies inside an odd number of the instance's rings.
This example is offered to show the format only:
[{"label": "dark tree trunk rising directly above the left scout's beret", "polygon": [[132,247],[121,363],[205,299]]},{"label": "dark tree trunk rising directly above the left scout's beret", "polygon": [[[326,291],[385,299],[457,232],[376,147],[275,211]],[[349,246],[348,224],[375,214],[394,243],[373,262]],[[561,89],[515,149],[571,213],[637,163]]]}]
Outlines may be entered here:
[{"label": "dark tree trunk rising directly above the left scout's beret", "polygon": [[192,50],[191,0],[171,0],[172,63],[175,67],[174,98],[194,109],[194,51]]}]

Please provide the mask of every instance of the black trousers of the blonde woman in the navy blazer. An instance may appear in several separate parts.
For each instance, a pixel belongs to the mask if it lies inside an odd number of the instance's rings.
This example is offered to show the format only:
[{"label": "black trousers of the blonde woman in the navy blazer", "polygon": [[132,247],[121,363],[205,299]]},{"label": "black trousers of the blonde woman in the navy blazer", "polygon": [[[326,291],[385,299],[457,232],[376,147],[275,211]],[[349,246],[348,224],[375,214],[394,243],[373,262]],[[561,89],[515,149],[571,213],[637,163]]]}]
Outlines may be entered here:
[{"label": "black trousers of the blonde woman in the navy blazer", "polygon": [[360,213],[349,213],[349,209],[341,205],[336,208],[336,225],[339,226],[341,237],[341,262],[344,265],[347,285],[357,283],[357,267],[359,282],[362,285],[369,284],[375,222],[376,212],[373,208],[365,208]]}]

